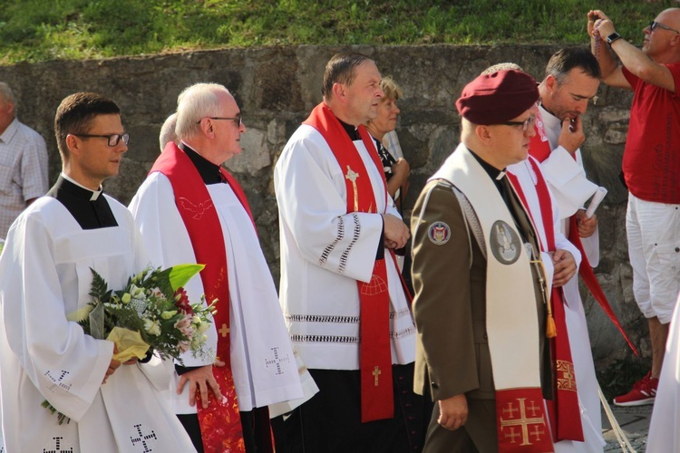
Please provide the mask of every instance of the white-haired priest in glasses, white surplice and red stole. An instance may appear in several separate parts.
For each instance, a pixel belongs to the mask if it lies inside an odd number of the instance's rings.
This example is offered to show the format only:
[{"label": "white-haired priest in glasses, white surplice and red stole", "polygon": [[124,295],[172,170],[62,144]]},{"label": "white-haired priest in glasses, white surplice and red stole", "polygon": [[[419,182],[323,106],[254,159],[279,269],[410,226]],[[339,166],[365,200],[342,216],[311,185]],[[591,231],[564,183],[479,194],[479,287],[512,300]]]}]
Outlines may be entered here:
[{"label": "white-haired priest in glasses, white surplice and red stole", "polygon": [[180,145],[166,145],[130,205],[151,262],[206,265],[185,289],[218,299],[214,363],[188,356],[171,371],[173,409],[199,451],[273,451],[267,405],[303,397],[248,200],[221,167],[245,130],[224,86],[189,86],[178,99]]}]

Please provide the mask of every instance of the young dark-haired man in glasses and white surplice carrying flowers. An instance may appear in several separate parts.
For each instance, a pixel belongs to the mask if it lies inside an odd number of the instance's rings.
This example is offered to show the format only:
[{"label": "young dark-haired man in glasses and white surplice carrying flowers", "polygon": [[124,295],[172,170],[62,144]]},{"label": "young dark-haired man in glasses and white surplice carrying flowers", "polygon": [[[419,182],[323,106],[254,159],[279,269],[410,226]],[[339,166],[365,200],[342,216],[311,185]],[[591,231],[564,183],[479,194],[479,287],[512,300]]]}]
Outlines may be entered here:
[{"label": "young dark-haired man in glasses and white surplice carrying flowers", "polygon": [[[11,226],[0,257],[0,386],[6,451],[194,451],[145,374],[67,315],[92,302],[92,271],[120,289],[148,263],[125,207],[102,193],[128,134],[101,95],[65,98],[54,120],[62,173]],[[44,400],[70,421],[59,424]]]}]

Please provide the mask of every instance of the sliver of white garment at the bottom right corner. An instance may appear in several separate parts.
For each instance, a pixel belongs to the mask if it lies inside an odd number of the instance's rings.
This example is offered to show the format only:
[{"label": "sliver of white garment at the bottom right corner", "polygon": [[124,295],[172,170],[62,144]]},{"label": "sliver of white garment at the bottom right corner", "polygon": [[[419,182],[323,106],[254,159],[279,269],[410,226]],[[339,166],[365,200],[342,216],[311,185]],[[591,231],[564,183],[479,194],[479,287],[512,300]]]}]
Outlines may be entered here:
[{"label": "sliver of white garment at the bottom right corner", "polygon": [[680,451],[680,298],[665,343],[664,364],[656,389],[646,451]]}]

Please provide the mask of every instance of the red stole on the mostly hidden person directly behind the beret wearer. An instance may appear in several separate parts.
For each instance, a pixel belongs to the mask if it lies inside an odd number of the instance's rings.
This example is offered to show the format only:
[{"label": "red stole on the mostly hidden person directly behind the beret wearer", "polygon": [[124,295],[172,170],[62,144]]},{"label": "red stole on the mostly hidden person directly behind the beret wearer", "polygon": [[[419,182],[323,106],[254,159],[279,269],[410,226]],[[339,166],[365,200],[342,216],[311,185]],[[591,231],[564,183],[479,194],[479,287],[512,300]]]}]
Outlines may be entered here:
[{"label": "red stole on the mostly hidden person directly behind the beret wearer", "polygon": [[[555,228],[548,185],[536,161],[529,159],[529,164],[538,179],[536,192],[539,196],[540,220],[546,236],[546,244],[541,240],[540,245],[544,252],[554,252]],[[527,203],[527,198],[524,195],[519,180],[511,173],[508,173],[508,177],[520,196],[522,204],[529,213],[529,217],[531,217],[534,225],[536,225],[536,220],[533,218],[535,213],[532,213],[529,209],[529,203]],[[574,373],[574,362],[571,357],[571,348],[569,346],[562,288],[551,288],[550,306],[558,332],[555,338],[550,339],[550,350],[554,358],[552,371],[555,374],[553,385],[555,400],[546,400],[550,415],[550,428],[555,442],[564,439],[583,441],[583,427],[581,426],[580,410],[578,409],[577,382]]]}]

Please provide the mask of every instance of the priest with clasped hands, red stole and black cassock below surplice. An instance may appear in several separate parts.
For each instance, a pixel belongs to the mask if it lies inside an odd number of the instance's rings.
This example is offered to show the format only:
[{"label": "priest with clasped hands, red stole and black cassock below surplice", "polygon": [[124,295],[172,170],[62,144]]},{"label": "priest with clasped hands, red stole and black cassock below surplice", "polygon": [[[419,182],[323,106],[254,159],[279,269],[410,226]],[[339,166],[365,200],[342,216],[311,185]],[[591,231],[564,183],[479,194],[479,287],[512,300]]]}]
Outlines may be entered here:
[{"label": "priest with clasped hands, red stole and black cassock below surplice", "polygon": [[364,127],[377,115],[380,81],[362,54],[331,58],[323,101],[274,170],[281,305],[319,387],[286,421],[306,451],[405,452],[423,445],[423,399],[410,384],[410,295],[393,253],[409,233]]}]

